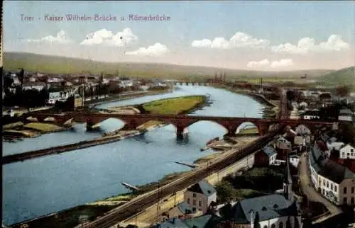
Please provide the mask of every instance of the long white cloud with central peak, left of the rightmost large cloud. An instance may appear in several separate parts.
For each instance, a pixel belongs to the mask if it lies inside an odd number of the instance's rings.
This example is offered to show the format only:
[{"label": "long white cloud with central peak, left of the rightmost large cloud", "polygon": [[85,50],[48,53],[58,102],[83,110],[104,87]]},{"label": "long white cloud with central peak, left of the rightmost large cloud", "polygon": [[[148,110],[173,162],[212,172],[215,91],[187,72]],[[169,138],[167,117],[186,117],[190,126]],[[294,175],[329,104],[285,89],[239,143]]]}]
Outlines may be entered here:
[{"label": "long white cloud with central peak, left of the rightmost large cloud", "polygon": [[203,39],[192,41],[192,47],[209,47],[219,49],[231,49],[234,47],[266,47],[269,45],[269,40],[253,38],[246,33],[238,32],[229,40],[222,37],[214,38],[214,40]]}]

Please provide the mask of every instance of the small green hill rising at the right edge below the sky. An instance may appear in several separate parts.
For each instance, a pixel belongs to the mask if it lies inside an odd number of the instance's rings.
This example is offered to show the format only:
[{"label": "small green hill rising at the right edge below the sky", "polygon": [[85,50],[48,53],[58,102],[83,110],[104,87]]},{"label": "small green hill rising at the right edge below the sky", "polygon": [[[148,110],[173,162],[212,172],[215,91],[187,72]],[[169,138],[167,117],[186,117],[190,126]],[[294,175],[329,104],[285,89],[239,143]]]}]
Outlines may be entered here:
[{"label": "small green hill rising at the right edge below the sky", "polygon": [[322,84],[329,86],[353,85],[355,86],[355,66],[339,69],[335,72],[325,74],[319,79]]}]

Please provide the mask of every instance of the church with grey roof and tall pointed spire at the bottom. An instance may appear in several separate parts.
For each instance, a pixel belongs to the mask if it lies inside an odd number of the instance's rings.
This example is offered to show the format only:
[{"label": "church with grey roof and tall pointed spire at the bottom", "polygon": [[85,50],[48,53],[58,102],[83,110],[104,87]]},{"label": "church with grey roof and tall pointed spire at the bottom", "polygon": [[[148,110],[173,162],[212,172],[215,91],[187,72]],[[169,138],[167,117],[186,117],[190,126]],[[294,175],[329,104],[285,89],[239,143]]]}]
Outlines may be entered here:
[{"label": "church with grey roof and tall pointed spire at the bottom", "polygon": [[[290,164],[285,167],[282,194],[264,195],[240,200],[236,205],[225,205],[219,209],[219,215],[234,223],[231,227],[254,227],[258,220],[261,228],[286,227],[289,220],[291,227],[302,227],[300,204],[292,193]],[[257,219],[258,217],[258,219]]]}]

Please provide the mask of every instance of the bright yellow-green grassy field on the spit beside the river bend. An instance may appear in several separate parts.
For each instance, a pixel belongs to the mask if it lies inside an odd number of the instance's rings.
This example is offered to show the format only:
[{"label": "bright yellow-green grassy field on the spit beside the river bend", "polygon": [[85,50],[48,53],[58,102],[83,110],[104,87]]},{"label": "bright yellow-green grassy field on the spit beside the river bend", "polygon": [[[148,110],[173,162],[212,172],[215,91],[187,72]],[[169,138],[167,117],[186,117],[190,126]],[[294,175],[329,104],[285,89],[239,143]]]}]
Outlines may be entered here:
[{"label": "bright yellow-green grassy field on the spit beside the river bend", "polygon": [[179,114],[204,102],[204,96],[184,96],[144,103],[144,110],[151,114]]}]

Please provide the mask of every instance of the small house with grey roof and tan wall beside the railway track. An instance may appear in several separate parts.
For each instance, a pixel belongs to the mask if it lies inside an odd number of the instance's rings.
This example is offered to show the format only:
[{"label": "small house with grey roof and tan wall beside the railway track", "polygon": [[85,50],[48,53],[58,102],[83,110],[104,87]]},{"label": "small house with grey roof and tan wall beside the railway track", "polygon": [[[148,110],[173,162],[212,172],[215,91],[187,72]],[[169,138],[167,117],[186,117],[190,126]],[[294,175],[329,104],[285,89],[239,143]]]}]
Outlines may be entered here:
[{"label": "small house with grey roof and tan wall beside the railway track", "polygon": [[217,191],[207,181],[199,181],[187,188],[184,201],[192,206],[192,212],[195,213],[198,210],[204,214],[212,202],[217,202]]}]

